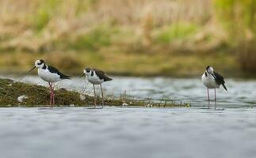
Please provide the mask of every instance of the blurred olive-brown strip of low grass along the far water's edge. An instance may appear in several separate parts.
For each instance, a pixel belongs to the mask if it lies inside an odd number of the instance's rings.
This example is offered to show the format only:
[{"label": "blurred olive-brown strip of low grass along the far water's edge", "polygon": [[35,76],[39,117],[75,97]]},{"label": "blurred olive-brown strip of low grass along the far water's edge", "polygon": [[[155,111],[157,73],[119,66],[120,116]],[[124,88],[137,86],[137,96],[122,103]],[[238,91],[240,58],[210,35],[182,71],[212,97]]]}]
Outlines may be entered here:
[{"label": "blurred olive-brown strip of low grass along the far water's edge", "polygon": [[[26,56],[24,60],[19,60]],[[255,73],[241,70],[237,56],[231,53],[222,54],[136,54],[115,52],[79,52],[65,51],[51,53],[13,52],[0,55],[0,73],[22,74],[31,69],[36,59],[43,58],[48,65],[59,68],[68,75],[81,75],[86,67],[104,70],[113,76],[126,77],[198,77],[205,67],[211,65],[225,77],[252,77]],[[53,59],[55,58],[55,59]],[[58,60],[56,60],[58,58]],[[68,61],[68,62],[67,62]],[[116,62],[113,62],[116,61]],[[60,69],[61,68],[61,69]],[[36,74],[33,72],[32,74]]]}]

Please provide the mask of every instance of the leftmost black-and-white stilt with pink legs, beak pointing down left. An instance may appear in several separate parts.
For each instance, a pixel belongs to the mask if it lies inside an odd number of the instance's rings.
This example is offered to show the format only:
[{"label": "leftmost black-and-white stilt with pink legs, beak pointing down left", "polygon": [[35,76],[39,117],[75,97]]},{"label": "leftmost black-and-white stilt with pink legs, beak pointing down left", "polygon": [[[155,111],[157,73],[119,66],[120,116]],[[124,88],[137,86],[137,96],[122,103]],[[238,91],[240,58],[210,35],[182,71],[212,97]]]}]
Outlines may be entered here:
[{"label": "leftmost black-and-white stilt with pink legs, beak pointing down left", "polygon": [[51,90],[50,105],[52,107],[52,105],[55,104],[55,100],[54,100],[55,95],[54,95],[54,85],[53,85],[53,83],[55,83],[57,81],[61,81],[63,79],[71,79],[71,77],[67,76],[63,73],[60,73],[59,70],[57,70],[53,66],[46,65],[44,60],[41,60],[41,59],[36,60],[35,66],[31,70],[29,70],[29,72],[31,72],[32,70],[34,70],[36,68],[38,68],[38,70],[37,70],[38,76],[41,77],[44,81],[47,81],[48,84],[49,84],[49,87],[50,87],[50,90]]}]

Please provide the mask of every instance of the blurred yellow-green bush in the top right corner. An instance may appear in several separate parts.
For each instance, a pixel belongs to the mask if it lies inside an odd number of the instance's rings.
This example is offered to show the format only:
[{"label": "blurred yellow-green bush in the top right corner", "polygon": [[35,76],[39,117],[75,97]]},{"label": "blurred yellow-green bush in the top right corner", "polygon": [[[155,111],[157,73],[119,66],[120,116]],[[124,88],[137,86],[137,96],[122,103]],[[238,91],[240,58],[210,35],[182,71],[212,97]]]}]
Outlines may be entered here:
[{"label": "blurred yellow-green bush in the top right corner", "polygon": [[256,1],[215,1],[216,13],[229,35],[231,46],[239,55],[243,70],[255,72],[256,66]]}]

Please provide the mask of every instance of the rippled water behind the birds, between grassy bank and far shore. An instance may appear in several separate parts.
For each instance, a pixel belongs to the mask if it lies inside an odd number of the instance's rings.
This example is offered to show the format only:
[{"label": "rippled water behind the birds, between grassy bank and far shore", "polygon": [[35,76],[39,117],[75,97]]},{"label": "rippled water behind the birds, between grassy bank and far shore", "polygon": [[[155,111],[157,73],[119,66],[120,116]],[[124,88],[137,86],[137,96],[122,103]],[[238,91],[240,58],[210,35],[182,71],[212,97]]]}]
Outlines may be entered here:
[{"label": "rippled water behind the birds, between grassy bank and far shore", "polygon": [[[11,77],[17,81],[24,81],[38,85],[47,85],[37,76],[26,76],[22,80]],[[85,86],[86,85],[86,86]],[[84,78],[74,77],[72,80],[59,81],[59,88],[67,88],[78,92],[93,94],[92,85],[85,84]],[[168,77],[113,77],[113,81],[104,83],[103,88],[110,96],[120,97],[126,93],[135,99],[173,100],[176,103],[188,102],[193,107],[207,106],[207,91],[200,78],[177,79]],[[216,90],[219,107],[254,107],[256,105],[256,80],[226,79],[228,92],[224,88]],[[99,90],[99,88],[98,88]],[[99,94],[99,93],[98,93]],[[214,106],[214,90],[210,90]]]}]

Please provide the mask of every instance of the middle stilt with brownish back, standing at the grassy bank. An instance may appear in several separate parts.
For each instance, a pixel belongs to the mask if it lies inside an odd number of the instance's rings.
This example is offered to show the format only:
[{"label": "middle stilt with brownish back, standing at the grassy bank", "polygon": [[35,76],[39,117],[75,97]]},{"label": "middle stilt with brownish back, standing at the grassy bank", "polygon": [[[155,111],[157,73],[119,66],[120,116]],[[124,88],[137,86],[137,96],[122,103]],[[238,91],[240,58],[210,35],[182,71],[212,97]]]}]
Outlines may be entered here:
[{"label": "middle stilt with brownish back, standing at the grassy bank", "polygon": [[[97,70],[97,69],[90,69],[86,68],[83,70],[83,75],[86,75],[87,80],[93,84],[93,85],[100,85],[105,81],[111,81],[112,78],[108,77],[103,71]],[[101,87],[101,97],[102,97],[102,107],[104,106],[104,96],[103,96],[103,90]],[[96,92],[95,92],[95,86],[94,86],[94,108],[96,108]],[[101,107],[101,108],[102,108]]]}]

